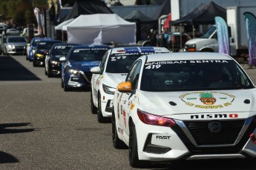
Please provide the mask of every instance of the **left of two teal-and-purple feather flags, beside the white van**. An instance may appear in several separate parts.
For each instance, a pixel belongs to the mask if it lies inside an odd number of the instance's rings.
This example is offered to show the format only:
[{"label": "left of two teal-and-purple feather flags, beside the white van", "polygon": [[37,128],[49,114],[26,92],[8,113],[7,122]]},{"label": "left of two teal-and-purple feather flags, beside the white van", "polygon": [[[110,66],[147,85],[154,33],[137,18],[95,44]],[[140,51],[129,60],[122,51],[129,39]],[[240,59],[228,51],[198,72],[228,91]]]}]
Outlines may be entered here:
[{"label": "left of two teal-and-purple feather flags, beside the white van", "polygon": [[229,55],[229,33],[226,21],[220,16],[216,16],[214,19],[217,30],[219,52]]}]

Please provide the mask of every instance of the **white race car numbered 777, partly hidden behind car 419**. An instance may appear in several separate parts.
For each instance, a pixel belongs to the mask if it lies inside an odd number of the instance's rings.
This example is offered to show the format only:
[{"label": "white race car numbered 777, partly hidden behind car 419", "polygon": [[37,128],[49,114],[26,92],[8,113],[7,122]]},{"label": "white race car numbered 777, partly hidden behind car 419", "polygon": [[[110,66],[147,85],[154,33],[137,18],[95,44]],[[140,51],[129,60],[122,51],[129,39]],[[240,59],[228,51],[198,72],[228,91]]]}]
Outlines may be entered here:
[{"label": "white race car numbered 777, partly hidden behind car 419", "polygon": [[91,112],[99,123],[111,120],[117,84],[125,81],[131,64],[141,55],[170,52],[163,47],[116,47],[105,53],[99,67],[91,68]]}]

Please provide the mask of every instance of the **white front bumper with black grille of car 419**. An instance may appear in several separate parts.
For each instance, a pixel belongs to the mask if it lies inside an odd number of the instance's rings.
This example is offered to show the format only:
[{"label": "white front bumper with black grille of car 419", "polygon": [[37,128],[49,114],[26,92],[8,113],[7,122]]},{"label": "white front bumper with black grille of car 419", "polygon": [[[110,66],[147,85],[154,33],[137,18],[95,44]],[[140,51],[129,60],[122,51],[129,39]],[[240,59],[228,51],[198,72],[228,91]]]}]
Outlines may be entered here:
[{"label": "white front bumper with black grille of car 419", "polygon": [[150,126],[134,121],[137,130],[140,160],[202,160],[213,158],[256,157],[255,122],[246,120],[221,120],[223,129],[209,132],[211,121],[175,120],[170,127]]}]

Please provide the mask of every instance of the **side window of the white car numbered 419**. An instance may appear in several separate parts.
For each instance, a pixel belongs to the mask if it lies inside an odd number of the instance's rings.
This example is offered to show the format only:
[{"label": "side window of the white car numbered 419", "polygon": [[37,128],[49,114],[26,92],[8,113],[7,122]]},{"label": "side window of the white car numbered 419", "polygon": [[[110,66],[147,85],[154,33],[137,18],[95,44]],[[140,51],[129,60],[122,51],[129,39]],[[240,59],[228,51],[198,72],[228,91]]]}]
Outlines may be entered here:
[{"label": "side window of the white car numbered 419", "polygon": [[128,81],[131,81],[131,85],[132,85],[132,89],[136,89],[137,88],[137,83],[139,80],[139,76],[140,76],[140,68],[141,68],[141,64],[142,61],[137,61],[136,63],[133,64],[133,67],[131,67],[131,72],[128,75]]}]

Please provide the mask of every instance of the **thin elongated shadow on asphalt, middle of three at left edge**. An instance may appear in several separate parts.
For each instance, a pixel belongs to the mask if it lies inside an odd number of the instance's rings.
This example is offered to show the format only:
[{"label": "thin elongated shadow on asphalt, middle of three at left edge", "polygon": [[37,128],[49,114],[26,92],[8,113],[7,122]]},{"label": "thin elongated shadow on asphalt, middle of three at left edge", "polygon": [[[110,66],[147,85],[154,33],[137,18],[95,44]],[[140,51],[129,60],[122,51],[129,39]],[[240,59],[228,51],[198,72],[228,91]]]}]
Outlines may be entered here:
[{"label": "thin elongated shadow on asphalt, middle of three at left edge", "polygon": [[26,128],[31,123],[1,123],[0,134],[33,132],[35,129]]}]

